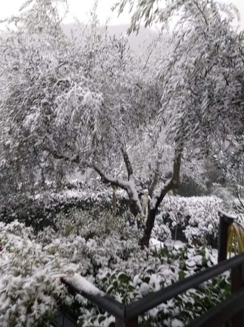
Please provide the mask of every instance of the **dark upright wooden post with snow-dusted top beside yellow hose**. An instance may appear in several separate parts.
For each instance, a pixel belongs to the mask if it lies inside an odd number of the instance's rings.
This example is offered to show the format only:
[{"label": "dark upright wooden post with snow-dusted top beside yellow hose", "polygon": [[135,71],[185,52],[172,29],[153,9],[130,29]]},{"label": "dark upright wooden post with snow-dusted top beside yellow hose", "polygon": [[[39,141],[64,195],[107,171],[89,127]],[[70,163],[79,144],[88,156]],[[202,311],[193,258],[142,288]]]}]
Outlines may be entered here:
[{"label": "dark upright wooden post with snow-dusted top beside yellow hose", "polygon": [[228,226],[234,221],[234,217],[224,211],[219,211],[219,237],[218,237],[218,262],[227,257]]}]

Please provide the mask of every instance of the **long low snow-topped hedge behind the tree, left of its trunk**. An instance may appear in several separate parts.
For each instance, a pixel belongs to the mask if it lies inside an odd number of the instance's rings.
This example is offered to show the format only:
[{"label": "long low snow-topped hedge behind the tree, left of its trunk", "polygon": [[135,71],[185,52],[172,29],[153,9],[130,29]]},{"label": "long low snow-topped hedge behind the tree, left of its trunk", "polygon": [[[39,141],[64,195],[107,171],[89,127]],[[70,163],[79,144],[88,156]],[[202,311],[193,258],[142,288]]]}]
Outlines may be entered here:
[{"label": "long low snow-topped hedge behind the tree, left of its trunk", "polygon": [[[15,219],[32,226],[35,232],[46,226],[55,226],[54,220],[58,215],[70,218],[71,212],[78,208],[80,210],[111,211],[111,190],[103,189],[94,191],[92,189],[72,189],[55,192],[48,190],[41,194],[30,195],[21,193],[19,196],[8,199],[5,204],[0,203],[0,221],[11,222]],[[128,200],[125,192],[117,191],[117,212],[123,213],[127,210]]]}]

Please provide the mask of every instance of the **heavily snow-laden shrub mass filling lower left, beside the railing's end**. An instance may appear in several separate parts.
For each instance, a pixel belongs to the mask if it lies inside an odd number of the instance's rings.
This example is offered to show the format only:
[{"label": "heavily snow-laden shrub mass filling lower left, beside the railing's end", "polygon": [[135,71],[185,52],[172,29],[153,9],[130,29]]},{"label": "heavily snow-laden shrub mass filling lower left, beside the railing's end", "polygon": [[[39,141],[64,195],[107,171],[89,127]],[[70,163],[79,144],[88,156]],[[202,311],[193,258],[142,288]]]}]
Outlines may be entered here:
[{"label": "heavily snow-laden shrub mass filling lower left, beside the railing's end", "polygon": [[[14,221],[7,225],[0,223],[0,240],[3,327],[39,327],[52,320],[59,305],[71,305],[60,276],[78,272],[95,283],[94,276],[104,270],[140,269],[141,259],[133,260],[140,251],[138,238],[130,230],[124,236],[114,232],[113,236],[86,240],[77,233],[64,235],[62,230],[46,227],[36,237],[32,228]],[[146,251],[142,256],[146,265]]]}]

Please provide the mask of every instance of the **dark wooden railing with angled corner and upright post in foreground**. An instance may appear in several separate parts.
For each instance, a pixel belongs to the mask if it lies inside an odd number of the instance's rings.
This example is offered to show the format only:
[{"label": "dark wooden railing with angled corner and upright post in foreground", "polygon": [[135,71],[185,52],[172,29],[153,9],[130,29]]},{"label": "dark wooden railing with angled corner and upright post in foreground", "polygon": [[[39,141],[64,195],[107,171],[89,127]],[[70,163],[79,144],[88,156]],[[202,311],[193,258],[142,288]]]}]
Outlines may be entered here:
[{"label": "dark wooden railing with angled corner and upright post in foreground", "polygon": [[214,308],[208,310],[202,316],[191,322],[188,327],[220,327],[224,322],[231,319],[233,327],[244,326],[244,253],[226,260],[227,252],[227,228],[233,222],[233,217],[219,212],[219,263],[216,266],[200,271],[182,281],[166,288],[152,292],[129,305],[123,305],[111,297],[91,295],[74,289],[63,280],[70,292],[81,293],[84,297],[96,304],[99,308],[107,311],[115,317],[116,327],[137,327],[139,315],[165,303],[171,298],[186,292],[191,288],[198,287],[201,283],[224,273],[231,271],[231,296]]}]

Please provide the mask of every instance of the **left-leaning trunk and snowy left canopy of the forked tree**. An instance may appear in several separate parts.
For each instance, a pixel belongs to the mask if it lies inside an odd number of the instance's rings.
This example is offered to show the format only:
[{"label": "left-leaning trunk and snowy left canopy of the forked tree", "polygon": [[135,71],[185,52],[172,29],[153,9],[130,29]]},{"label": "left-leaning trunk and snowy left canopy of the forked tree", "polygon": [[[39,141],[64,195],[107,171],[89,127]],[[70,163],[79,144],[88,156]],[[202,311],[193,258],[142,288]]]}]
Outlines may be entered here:
[{"label": "left-leaning trunk and snowy left canopy of the forked tree", "polygon": [[[89,167],[128,192],[136,216],[141,204],[127,150],[159,108],[157,80],[144,78],[123,37],[107,38],[94,27],[87,42],[77,44],[56,15],[45,15],[51,3],[44,4],[12,19],[20,28],[2,41],[4,166],[13,176],[16,162],[34,176],[45,165],[51,171],[53,158],[63,159],[68,171]],[[53,20],[53,29],[32,30],[35,12],[44,27]]]}]

